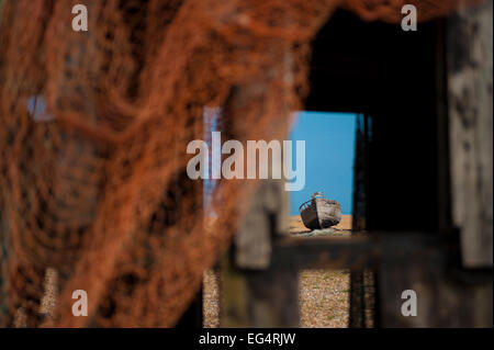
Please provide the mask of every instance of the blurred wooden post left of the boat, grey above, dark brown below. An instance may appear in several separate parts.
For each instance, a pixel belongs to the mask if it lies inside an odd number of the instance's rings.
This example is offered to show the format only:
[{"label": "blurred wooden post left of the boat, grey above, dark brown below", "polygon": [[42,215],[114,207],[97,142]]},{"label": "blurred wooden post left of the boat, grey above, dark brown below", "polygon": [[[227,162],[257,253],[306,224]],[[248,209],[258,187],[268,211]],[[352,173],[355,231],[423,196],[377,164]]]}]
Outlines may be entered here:
[{"label": "blurred wooden post left of the boat, grey above, dark brown below", "polygon": [[222,261],[222,327],[299,326],[297,271],[270,267],[271,240],[288,207],[283,191],[280,180],[259,185],[234,249]]}]

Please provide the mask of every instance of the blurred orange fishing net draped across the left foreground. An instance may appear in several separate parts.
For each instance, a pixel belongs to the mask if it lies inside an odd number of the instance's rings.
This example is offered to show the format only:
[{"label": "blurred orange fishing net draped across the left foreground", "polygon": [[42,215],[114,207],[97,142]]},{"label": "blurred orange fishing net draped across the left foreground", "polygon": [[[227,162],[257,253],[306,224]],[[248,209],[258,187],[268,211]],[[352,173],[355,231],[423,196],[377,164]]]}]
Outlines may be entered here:
[{"label": "blurred orange fishing net draped across the left foreground", "polygon": [[[336,8],[400,23],[405,3],[429,20],[464,2],[3,1],[2,325],[21,313],[27,326],[172,326],[255,185],[218,181],[205,212],[202,182],[184,172],[204,106],[224,106],[220,128],[237,139],[284,139],[311,39]],[[77,3],[88,32],[71,30]],[[75,290],[89,317],[72,316]]]}]

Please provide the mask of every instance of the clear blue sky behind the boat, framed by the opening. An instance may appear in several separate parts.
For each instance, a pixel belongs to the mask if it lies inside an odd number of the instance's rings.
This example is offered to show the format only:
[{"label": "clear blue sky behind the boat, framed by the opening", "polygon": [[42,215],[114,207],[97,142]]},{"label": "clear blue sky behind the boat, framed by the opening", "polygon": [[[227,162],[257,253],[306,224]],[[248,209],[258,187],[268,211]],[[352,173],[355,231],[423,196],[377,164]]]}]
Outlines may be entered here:
[{"label": "clear blue sky behind the boat, framed by the opening", "polygon": [[311,194],[341,204],[343,214],[351,214],[356,114],[299,112],[292,127],[292,140],[305,140],[305,188],[290,193],[290,215]]}]

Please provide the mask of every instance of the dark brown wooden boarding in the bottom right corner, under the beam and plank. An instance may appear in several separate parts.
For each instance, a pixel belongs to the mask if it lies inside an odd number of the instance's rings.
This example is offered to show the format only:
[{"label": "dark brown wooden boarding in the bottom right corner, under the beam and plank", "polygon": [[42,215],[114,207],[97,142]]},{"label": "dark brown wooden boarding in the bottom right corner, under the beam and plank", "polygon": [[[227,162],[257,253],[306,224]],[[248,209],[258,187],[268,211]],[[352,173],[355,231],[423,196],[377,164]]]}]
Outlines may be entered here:
[{"label": "dark brown wooden boarding in the bottom right corner, under the beam and plank", "polygon": [[[381,327],[492,327],[491,272],[464,281],[447,253],[400,266],[390,258],[383,257],[378,273]],[[416,316],[402,314],[406,290],[416,293]]]}]

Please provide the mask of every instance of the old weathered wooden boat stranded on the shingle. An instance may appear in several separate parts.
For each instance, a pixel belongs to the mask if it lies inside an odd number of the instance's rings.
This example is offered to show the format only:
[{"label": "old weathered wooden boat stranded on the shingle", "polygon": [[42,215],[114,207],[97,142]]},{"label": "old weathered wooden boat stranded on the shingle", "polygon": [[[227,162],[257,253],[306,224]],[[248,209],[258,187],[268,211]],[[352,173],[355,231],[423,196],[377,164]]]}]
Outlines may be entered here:
[{"label": "old weathered wooden boat stranded on the shingle", "polygon": [[341,219],[341,206],[338,202],[325,199],[323,192],[316,192],[312,199],[299,207],[300,216],[310,229],[328,228],[338,225]]}]

